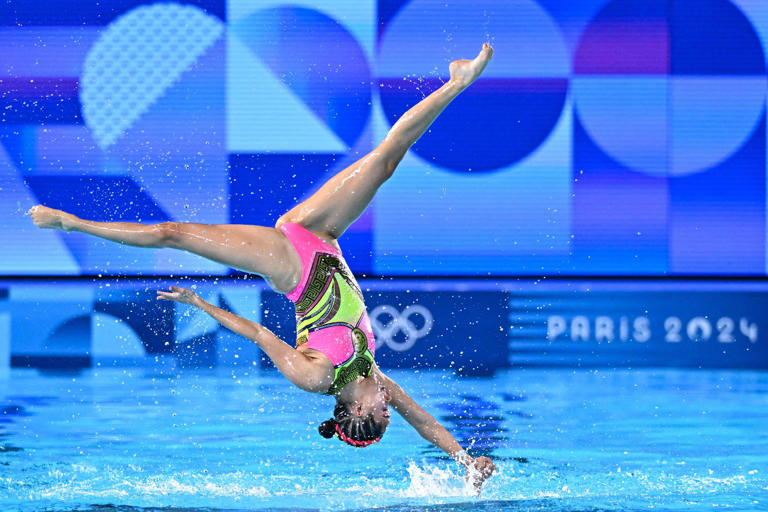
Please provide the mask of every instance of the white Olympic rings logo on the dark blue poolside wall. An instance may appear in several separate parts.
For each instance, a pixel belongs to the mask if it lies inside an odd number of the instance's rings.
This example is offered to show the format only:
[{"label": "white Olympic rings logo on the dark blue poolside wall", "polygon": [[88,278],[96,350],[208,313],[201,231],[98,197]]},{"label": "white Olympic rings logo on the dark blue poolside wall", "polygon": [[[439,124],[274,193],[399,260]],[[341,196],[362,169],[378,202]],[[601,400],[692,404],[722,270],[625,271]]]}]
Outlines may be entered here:
[{"label": "white Olympic rings logo on the dark blue poolside wall", "polygon": [[[387,345],[396,352],[410,350],[416,340],[429,334],[429,331],[432,330],[432,324],[434,324],[432,313],[418,304],[408,306],[402,313],[394,306],[376,306],[368,316],[371,320],[371,327],[373,327],[373,334],[376,337],[376,348]],[[382,322],[379,320],[382,316],[385,322],[386,317],[391,318],[391,320],[386,323]],[[417,327],[413,321],[413,318],[419,316],[424,322],[421,327]],[[405,335],[404,341],[395,341],[395,336],[399,332]]]}]

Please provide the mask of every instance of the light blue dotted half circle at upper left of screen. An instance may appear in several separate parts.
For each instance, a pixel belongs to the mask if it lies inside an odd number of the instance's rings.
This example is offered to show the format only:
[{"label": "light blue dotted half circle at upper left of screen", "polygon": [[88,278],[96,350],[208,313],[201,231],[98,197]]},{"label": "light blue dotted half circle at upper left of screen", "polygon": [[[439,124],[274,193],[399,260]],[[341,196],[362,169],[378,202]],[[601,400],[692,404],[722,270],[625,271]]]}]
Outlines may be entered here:
[{"label": "light blue dotted half circle at upper left of screen", "polygon": [[140,6],[90,48],[80,78],[83,118],[102,149],[114,144],[221,37],[224,23],[190,5]]}]

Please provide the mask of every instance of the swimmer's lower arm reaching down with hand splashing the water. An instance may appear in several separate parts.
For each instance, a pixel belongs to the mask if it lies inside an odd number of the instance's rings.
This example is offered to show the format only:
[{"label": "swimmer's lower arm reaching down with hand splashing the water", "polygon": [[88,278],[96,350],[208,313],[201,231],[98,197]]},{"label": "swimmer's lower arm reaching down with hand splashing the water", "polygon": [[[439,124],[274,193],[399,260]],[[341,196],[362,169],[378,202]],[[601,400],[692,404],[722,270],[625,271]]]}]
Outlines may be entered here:
[{"label": "swimmer's lower arm reaching down with hand splashing the water", "polygon": [[385,382],[384,385],[392,397],[392,400],[389,402],[390,405],[405,418],[405,421],[416,429],[416,432],[421,437],[443,450],[453,457],[456,462],[464,466],[468,471],[467,476],[473,479],[477,488],[496,471],[496,466],[491,459],[488,457],[471,457],[451,433],[433,418],[431,414],[422,409],[408,393],[403,391],[403,388],[378,369],[377,371],[379,378]]}]

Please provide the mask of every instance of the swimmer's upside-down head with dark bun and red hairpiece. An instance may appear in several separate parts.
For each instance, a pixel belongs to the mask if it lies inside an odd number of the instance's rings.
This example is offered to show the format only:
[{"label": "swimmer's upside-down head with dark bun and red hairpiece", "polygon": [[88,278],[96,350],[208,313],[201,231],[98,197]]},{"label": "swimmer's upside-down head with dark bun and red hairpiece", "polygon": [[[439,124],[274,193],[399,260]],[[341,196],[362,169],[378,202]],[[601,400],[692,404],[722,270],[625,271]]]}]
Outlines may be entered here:
[{"label": "swimmer's upside-down head with dark bun and red hairpiece", "polygon": [[354,398],[351,402],[337,399],[334,417],[318,430],[325,438],[336,436],[350,446],[365,448],[380,441],[389,426],[389,390],[369,377],[355,390]]}]

